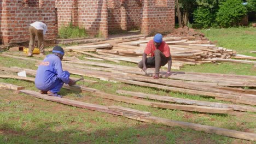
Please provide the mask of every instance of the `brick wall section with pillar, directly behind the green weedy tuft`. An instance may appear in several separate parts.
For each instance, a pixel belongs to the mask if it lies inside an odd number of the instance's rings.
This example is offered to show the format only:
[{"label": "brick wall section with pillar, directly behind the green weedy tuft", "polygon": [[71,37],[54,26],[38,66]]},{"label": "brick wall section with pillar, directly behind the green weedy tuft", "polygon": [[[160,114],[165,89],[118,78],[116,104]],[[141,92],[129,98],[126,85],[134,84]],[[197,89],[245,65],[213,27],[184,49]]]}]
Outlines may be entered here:
[{"label": "brick wall section with pillar, directly behind the green weedy tuft", "polygon": [[85,28],[90,35],[107,37],[107,0],[56,0],[59,27]]}]

